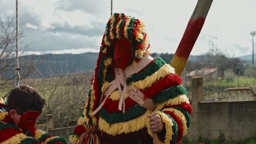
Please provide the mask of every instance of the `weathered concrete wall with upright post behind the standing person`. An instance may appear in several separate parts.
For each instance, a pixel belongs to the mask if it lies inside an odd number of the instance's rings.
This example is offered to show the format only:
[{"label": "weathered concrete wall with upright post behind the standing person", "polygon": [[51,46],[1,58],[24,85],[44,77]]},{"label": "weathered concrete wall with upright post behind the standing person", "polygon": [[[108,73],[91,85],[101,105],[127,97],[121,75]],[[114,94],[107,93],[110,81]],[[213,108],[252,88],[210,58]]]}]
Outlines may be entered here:
[{"label": "weathered concrete wall with upright post behind the standing person", "polygon": [[193,114],[187,137],[218,139],[222,130],[226,140],[256,136],[256,101],[202,101],[201,77],[192,79]]}]

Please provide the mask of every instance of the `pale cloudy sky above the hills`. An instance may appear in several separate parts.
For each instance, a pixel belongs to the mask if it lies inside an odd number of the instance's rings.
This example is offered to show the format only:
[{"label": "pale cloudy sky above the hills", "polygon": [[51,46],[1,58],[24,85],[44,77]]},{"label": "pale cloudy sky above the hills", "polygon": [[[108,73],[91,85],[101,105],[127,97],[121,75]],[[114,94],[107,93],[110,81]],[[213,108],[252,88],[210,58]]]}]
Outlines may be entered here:
[{"label": "pale cloudy sky above the hills", "polygon": [[[113,0],[113,12],[144,21],[152,52],[174,53],[196,2]],[[33,53],[98,52],[109,16],[110,0],[19,1],[23,43]],[[8,17],[15,17],[15,0],[0,0],[0,20]],[[256,31],[256,0],[214,0],[191,55],[208,52],[209,41],[230,57],[250,55],[251,31]]]}]

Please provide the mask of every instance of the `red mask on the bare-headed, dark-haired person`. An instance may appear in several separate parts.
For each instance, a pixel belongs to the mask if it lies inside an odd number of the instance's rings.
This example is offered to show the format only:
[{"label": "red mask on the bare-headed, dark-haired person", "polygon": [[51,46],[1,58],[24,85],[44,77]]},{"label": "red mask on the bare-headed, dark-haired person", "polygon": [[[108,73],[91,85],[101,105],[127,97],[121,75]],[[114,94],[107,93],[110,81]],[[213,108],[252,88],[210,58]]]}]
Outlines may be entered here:
[{"label": "red mask on the bare-headed, dark-haired person", "polygon": [[42,113],[42,111],[28,111],[21,115],[18,127],[22,129],[23,133],[27,133],[30,131],[32,136],[35,135],[36,128],[34,125],[36,124],[37,118]]}]

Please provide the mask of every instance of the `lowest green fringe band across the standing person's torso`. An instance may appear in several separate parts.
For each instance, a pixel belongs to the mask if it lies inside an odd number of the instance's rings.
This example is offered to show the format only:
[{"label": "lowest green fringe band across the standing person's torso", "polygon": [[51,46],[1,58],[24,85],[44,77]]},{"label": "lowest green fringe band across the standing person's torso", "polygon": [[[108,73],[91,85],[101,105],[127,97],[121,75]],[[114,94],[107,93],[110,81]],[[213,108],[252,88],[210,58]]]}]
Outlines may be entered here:
[{"label": "lowest green fringe band across the standing person's torso", "polygon": [[127,122],[132,119],[135,119],[141,115],[143,115],[147,109],[140,105],[135,105],[131,109],[126,110],[125,113],[123,112],[113,112],[108,113],[105,107],[102,107],[100,111],[100,117],[105,119],[108,123],[120,123],[120,122]]}]

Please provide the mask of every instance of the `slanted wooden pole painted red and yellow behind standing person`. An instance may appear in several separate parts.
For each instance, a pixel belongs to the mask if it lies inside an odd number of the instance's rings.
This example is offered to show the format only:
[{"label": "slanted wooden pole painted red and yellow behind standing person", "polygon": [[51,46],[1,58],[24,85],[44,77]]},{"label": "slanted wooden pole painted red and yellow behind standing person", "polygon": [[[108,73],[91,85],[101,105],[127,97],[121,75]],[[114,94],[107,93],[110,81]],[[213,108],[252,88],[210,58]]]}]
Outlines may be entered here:
[{"label": "slanted wooden pole painted red and yellow behind standing person", "polygon": [[206,16],[210,10],[213,0],[199,0],[193,14],[190,17],[187,28],[183,34],[182,40],[172,58],[171,66],[175,69],[176,73],[181,76],[184,70],[191,50],[198,38],[203,23],[205,23]]}]

